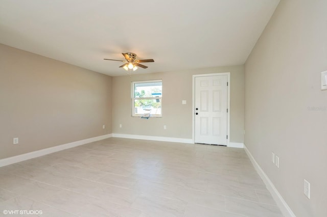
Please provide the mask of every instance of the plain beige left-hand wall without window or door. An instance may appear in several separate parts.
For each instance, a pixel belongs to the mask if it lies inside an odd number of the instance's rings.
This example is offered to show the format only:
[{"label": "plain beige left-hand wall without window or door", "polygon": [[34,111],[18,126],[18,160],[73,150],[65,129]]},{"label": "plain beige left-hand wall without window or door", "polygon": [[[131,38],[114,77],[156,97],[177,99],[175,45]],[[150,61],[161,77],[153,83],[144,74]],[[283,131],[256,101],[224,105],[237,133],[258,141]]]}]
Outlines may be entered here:
[{"label": "plain beige left-hand wall without window or door", "polygon": [[0,159],[108,134],[111,125],[110,76],[0,44]]}]

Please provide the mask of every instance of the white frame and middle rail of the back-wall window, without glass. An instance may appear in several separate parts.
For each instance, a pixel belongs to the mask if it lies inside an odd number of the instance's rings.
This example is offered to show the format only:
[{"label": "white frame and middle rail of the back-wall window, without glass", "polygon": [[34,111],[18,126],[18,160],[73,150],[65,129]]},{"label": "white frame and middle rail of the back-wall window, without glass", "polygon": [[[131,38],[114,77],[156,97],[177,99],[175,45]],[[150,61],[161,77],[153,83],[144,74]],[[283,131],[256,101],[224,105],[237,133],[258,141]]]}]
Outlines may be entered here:
[{"label": "white frame and middle rail of the back-wall window, without glass", "polygon": [[[135,97],[135,84],[145,84],[145,83],[158,83],[161,82],[161,95],[155,97]],[[159,99],[160,100],[160,115],[151,114],[151,118],[161,118],[162,117],[162,79],[156,80],[139,80],[131,82],[131,108],[132,117],[142,117],[143,114],[135,114],[135,99]]]}]

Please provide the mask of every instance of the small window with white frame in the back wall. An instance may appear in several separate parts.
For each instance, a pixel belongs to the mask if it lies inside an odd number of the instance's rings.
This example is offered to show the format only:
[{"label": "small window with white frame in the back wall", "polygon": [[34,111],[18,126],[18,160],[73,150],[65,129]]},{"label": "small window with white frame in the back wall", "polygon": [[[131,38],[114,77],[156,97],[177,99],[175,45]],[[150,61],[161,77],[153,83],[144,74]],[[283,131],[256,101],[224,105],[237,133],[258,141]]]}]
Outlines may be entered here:
[{"label": "small window with white frame in the back wall", "polygon": [[162,117],[162,80],[132,82],[132,116]]}]

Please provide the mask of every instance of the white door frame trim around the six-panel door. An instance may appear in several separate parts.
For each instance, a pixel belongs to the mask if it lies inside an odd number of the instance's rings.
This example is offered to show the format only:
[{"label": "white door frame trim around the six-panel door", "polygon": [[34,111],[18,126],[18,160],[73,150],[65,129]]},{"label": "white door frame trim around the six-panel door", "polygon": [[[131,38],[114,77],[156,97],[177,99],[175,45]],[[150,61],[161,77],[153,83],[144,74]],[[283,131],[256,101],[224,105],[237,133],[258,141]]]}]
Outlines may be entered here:
[{"label": "white door frame trim around the six-panel door", "polygon": [[223,72],[223,73],[212,73],[212,74],[194,74],[193,75],[193,93],[192,93],[192,141],[195,143],[195,78],[196,77],[205,77],[205,76],[215,76],[215,75],[227,75],[227,146],[229,146],[229,138],[230,138],[230,133],[229,133],[229,114],[230,114],[230,72]]}]

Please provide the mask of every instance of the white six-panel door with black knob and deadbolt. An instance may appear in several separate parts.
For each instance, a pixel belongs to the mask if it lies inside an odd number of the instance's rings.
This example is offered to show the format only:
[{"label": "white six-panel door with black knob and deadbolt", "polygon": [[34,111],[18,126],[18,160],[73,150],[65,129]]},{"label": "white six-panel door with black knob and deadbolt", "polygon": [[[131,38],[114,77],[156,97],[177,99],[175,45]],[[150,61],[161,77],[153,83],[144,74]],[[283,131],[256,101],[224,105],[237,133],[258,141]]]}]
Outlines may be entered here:
[{"label": "white six-panel door with black knob and deadbolt", "polygon": [[195,77],[195,143],[227,145],[227,75]]}]

